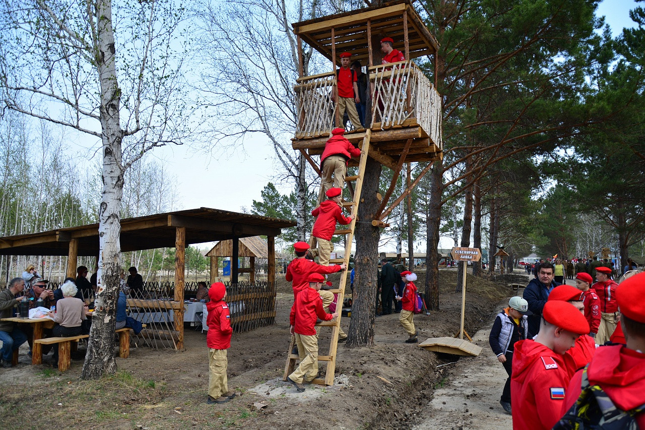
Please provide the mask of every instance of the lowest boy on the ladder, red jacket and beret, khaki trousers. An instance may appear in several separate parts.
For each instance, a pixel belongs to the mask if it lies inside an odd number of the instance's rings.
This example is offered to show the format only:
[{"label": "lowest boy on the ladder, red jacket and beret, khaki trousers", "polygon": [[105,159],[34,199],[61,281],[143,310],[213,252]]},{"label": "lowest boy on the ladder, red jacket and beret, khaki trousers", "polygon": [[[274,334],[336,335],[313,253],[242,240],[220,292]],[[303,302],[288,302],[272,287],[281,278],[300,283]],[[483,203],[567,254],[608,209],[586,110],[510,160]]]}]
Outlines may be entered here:
[{"label": "lowest boy on the ladder, red jacket and beret, khaki trousers", "polygon": [[318,374],[318,336],[315,329],[317,318],[329,321],[338,316],[338,311],[328,314],[323,309],[323,300],[319,294],[323,282],[323,275],[311,274],[309,287],[298,292],[289,315],[290,331],[295,335],[300,364],[287,376],[287,380],[299,393],[304,391],[303,382],[312,382]]}]

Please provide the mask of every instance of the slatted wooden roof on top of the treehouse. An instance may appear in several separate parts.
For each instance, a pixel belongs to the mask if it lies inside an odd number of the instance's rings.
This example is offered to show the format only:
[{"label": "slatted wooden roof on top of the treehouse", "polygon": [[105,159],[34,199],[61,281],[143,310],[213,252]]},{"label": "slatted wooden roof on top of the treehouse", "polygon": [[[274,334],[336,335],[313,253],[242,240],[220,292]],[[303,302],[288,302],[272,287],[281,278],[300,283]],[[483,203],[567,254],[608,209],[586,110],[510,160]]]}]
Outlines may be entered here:
[{"label": "slatted wooden roof on top of the treehouse", "polygon": [[404,32],[407,30],[410,43],[410,54],[406,56],[408,59],[435,54],[439,48],[437,39],[430,34],[410,0],[391,1],[342,14],[326,15],[294,23],[292,26],[297,36],[335,64],[340,63],[340,58],[333,61],[332,52],[339,56],[345,51],[352,53],[352,61],[359,60],[366,64],[366,60],[370,58],[368,35],[379,36],[379,39],[392,37],[395,48],[402,50]]}]

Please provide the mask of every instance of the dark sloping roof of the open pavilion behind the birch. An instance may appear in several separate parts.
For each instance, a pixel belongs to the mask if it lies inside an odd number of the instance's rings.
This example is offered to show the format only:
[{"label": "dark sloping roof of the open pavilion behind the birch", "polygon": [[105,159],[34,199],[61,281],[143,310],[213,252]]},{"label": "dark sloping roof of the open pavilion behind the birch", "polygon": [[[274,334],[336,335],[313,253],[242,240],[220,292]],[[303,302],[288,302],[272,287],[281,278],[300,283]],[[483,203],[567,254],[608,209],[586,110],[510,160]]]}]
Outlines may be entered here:
[{"label": "dark sloping roof of the open pavilion behind the birch", "polygon": [[[278,236],[281,229],[293,226],[295,222],[289,220],[208,207],[177,210],[121,220],[121,251],[173,248],[177,227],[186,229],[185,243],[190,245],[258,235]],[[72,239],[78,242],[77,255],[97,256],[99,254],[98,223],[5,236],[0,238],[0,254],[67,256]],[[266,244],[264,247],[266,252]]]}]

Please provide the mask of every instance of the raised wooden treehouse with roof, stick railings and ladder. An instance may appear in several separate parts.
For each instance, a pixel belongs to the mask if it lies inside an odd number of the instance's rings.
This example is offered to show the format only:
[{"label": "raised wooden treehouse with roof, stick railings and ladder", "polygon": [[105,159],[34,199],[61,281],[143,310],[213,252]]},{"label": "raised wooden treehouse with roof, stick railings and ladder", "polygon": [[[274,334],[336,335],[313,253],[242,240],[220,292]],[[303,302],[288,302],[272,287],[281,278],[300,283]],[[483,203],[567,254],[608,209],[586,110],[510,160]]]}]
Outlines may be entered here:
[{"label": "raised wooden treehouse with roof, stick railings and ladder", "polygon": [[[358,163],[358,172],[345,178],[352,201],[344,202],[342,206],[349,207],[353,215],[357,214],[366,161],[368,157],[375,159],[394,172],[390,187],[381,198],[377,216],[372,220],[372,225],[383,227],[388,214],[430,170],[432,162],[442,158],[441,96],[436,89],[436,77],[432,82],[412,61],[431,56],[436,70],[439,45],[409,0],[295,23],[293,32],[297,36],[299,77],[293,87],[298,121],[292,146],[302,152],[318,174],[321,174],[320,164],[313,157],[323,154],[332,128],[344,127],[337,105],[333,103],[338,96],[336,70],[341,64],[340,54],[349,52],[352,63],[358,60],[362,67],[366,67],[363,70],[368,77],[370,97],[367,99],[364,127],[361,124],[345,127],[344,136],[361,149],[361,157],[350,160],[350,166]],[[385,53],[381,51],[381,39],[385,37],[392,38],[393,48],[401,51],[404,61],[382,64]],[[329,72],[304,76],[303,43],[331,62]],[[424,61],[427,63],[429,61]],[[417,161],[428,165],[388,207],[403,163]],[[335,234],[346,236],[347,247],[344,258],[332,259],[330,263],[349,263],[355,222],[354,219],[348,228],[336,230]],[[331,290],[338,296],[337,303],[342,303],[346,281],[347,271],[342,271],[338,288]],[[332,335],[328,353],[323,354],[321,349],[318,356],[320,363],[326,363],[324,378],[313,382],[332,385],[341,318],[320,322],[317,326],[331,327]],[[299,358],[293,351],[293,344],[292,338],[284,380]]]}]

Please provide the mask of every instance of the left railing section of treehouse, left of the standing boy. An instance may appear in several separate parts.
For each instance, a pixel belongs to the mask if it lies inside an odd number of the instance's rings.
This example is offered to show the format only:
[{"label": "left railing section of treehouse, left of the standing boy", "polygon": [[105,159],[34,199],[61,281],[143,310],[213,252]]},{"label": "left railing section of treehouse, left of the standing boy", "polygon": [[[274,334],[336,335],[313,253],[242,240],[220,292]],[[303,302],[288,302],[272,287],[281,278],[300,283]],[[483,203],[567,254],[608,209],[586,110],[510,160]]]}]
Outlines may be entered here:
[{"label": "left railing section of treehouse, left of the standing boy", "polygon": [[297,101],[297,138],[315,138],[329,134],[333,125],[333,87],[336,76],[333,72],[298,79],[293,86]]}]

